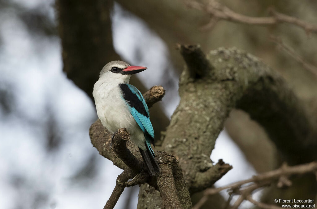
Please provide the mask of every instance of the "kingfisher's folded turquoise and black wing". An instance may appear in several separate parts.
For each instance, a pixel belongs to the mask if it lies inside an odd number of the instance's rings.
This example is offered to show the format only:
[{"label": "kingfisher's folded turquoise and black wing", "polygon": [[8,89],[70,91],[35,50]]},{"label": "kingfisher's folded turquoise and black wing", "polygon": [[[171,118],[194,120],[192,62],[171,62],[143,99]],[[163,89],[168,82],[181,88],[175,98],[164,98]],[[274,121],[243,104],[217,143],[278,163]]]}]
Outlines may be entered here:
[{"label": "kingfisher's folded turquoise and black wing", "polygon": [[131,115],[143,132],[147,132],[154,139],[154,131],[150,121],[149,108],[140,91],[131,84],[120,84],[122,97],[127,101]]}]

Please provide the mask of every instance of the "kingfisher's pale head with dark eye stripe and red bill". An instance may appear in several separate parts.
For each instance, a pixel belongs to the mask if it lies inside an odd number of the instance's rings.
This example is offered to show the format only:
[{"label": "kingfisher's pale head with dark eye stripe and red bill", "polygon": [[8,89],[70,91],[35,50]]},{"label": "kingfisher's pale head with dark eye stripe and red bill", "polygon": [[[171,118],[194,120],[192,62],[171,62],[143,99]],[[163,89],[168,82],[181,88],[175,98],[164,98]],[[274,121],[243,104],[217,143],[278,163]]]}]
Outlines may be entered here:
[{"label": "kingfisher's pale head with dark eye stripe and red bill", "polygon": [[99,78],[105,79],[118,79],[122,82],[129,82],[132,74],[146,70],[146,67],[130,66],[122,61],[111,61],[107,63],[100,71]]}]

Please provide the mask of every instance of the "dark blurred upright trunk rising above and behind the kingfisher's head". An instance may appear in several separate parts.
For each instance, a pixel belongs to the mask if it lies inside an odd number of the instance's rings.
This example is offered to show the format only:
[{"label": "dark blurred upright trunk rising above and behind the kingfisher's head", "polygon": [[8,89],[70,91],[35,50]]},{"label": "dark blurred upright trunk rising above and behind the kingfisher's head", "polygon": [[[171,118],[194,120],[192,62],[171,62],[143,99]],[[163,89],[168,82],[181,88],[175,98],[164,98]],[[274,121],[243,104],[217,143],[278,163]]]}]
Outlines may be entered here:
[{"label": "dark blurred upright trunk rising above and behind the kingfisher's head", "polygon": [[113,1],[57,0],[63,71],[92,97],[94,83],[107,62],[120,59],[113,49],[110,12]]}]

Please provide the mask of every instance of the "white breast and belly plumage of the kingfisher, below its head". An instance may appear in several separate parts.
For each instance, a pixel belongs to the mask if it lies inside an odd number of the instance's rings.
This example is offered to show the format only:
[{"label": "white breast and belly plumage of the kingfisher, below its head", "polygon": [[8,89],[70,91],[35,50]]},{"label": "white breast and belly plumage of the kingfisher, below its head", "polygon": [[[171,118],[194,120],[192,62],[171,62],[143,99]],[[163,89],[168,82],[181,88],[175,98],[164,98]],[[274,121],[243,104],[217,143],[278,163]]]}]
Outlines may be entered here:
[{"label": "white breast and belly plumage of the kingfisher, below its head", "polygon": [[119,88],[119,84],[129,83],[130,77],[131,75],[111,71],[102,74],[94,84],[93,97],[102,125],[111,133],[126,128],[130,133],[130,139],[142,150],[146,150],[144,133],[131,115]]}]

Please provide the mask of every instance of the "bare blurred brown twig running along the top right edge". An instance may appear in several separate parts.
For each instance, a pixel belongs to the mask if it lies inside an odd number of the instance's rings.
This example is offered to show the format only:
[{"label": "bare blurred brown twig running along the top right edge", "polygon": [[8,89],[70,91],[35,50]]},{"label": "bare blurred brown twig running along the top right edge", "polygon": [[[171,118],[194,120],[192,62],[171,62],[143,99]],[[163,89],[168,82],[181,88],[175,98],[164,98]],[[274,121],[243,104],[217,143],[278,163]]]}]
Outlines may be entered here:
[{"label": "bare blurred brown twig running along the top right edge", "polygon": [[317,32],[317,24],[306,23],[296,17],[291,17],[275,10],[271,9],[270,13],[272,16],[270,17],[250,17],[246,15],[242,15],[234,12],[223,4],[210,0],[208,4],[200,3],[197,1],[186,1],[186,4],[191,8],[195,8],[201,11],[206,12],[211,16],[213,20],[211,20],[210,24],[204,26],[204,29],[207,29],[208,26],[213,27],[215,21],[218,20],[227,20],[231,22],[238,22],[244,24],[253,24],[253,25],[274,25],[279,23],[288,23],[293,24],[298,27],[304,29],[307,33],[309,32]]}]

